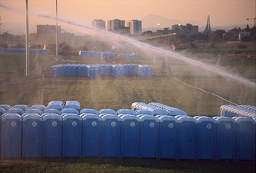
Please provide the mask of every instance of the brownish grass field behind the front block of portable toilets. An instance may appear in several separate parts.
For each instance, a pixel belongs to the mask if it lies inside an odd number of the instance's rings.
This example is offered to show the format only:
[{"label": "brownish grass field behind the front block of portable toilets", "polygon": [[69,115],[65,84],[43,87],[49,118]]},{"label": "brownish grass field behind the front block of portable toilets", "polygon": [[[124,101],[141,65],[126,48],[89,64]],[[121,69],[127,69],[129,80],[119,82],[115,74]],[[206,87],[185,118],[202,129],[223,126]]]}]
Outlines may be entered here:
[{"label": "brownish grass field behind the front block of portable toilets", "polygon": [[[153,67],[152,78],[138,76],[126,78],[51,78],[51,66],[55,64],[99,64],[99,59],[89,57],[59,57],[31,55],[31,76],[24,76],[24,55],[0,55],[0,103],[47,105],[51,100],[77,100],[82,108],[130,109],[133,102],[160,102],[185,110],[191,116],[205,114],[216,116],[224,101],[182,82],[220,95],[237,104],[255,105],[255,88],[234,79],[214,74],[197,66],[191,66],[171,57],[153,54],[138,55],[133,61],[123,63],[149,64]],[[171,75],[161,74],[161,61],[170,63]],[[226,60],[227,61],[227,60]],[[236,63],[236,64],[235,64]],[[255,75],[255,59],[232,61],[234,68],[249,64],[244,78]],[[222,66],[221,68],[225,68]],[[230,66],[229,66],[230,67]],[[234,69],[232,68],[232,69]],[[239,70],[237,70],[239,72]],[[182,80],[182,82],[176,80]]]}]

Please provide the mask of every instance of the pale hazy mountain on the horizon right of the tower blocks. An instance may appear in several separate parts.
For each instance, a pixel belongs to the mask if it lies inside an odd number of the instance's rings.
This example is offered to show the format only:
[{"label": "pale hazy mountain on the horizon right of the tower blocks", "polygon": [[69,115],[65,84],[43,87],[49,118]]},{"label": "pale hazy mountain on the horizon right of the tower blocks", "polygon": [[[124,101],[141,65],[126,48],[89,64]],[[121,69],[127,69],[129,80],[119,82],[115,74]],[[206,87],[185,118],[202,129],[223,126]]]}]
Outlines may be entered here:
[{"label": "pale hazy mountain on the horizon right of the tower blocks", "polygon": [[167,28],[175,24],[192,24],[192,25],[198,25],[202,26],[202,24],[198,21],[180,21],[180,20],[175,20],[175,19],[168,19],[164,18],[162,16],[158,16],[155,14],[149,14],[146,17],[142,18],[142,28],[157,28],[157,23],[160,23],[161,25],[159,28]]}]

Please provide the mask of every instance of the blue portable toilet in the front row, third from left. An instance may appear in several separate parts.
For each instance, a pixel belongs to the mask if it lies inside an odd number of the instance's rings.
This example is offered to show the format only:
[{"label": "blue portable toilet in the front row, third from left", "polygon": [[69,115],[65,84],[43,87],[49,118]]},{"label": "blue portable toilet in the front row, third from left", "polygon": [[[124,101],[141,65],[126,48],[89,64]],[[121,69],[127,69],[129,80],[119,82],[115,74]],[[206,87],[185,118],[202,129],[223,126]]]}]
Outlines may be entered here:
[{"label": "blue portable toilet in the front row, third from left", "polygon": [[61,157],[62,117],[58,114],[46,114],[43,117],[43,157]]}]

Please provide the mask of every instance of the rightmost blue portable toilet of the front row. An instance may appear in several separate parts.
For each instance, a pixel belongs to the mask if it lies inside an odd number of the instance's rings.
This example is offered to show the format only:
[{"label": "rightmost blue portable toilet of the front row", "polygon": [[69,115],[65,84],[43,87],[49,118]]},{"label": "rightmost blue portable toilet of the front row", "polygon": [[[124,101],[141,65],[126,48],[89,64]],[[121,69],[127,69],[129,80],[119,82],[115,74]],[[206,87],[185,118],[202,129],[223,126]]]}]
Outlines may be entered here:
[{"label": "rightmost blue portable toilet of the front row", "polygon": [[236,160],[255,160],[255,121],[234,117],[236,121]]}]

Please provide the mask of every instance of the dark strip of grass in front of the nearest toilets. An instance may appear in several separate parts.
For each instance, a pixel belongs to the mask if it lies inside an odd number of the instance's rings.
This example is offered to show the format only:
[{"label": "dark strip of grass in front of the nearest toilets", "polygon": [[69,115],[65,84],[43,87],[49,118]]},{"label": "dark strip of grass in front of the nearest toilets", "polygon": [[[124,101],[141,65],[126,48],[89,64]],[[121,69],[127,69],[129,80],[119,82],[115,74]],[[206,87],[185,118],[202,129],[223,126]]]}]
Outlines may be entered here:
[{"label": "dark strip of grass in front of the nearest toilets", "polygon": [[1,172],[255,172],[252,161],[118,158],[0,159]]}]

